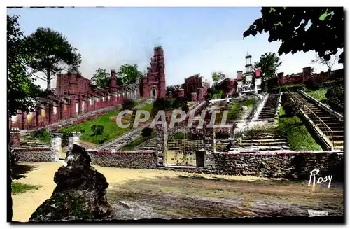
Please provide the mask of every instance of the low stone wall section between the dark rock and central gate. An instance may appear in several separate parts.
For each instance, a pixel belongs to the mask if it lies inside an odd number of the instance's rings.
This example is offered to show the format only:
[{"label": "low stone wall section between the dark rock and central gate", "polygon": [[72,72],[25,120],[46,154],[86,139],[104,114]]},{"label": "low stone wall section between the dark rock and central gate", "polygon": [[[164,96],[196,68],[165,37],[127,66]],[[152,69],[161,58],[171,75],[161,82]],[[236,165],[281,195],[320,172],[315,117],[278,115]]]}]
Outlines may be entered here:
[{"label": "low stone wall section between the dark rock and central gate", "polygon": [[157,163],[155,151],[87,151],[92,165],[128,169],[153,169]]}]

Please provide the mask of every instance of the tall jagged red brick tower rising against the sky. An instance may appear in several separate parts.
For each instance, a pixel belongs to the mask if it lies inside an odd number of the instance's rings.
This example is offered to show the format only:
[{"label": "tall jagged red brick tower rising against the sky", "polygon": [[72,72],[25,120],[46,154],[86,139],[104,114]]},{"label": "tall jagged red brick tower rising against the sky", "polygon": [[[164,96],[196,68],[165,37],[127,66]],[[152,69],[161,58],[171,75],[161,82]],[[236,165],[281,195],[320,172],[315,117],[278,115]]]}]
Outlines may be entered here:
[{"label": "tall jagged red brick tower rising against the sky", "polygon": [[165,62],[162,47],[154,48],[151,58],[151,67],[147,68],[146,76],[142,77],[141,97],[164,98],[165,97]]}]

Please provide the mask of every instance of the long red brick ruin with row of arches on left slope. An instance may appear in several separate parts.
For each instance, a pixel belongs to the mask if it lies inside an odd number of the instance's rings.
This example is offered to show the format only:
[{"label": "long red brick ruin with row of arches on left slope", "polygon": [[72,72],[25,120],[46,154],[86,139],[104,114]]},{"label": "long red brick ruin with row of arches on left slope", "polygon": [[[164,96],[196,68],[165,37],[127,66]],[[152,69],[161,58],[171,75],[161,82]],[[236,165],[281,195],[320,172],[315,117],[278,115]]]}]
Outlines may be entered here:
[{"label": "long red brick ruin with row of arches on left slope", "polygon": [[57,76],[55,95],[38,98],[36,108],[30,113],[18,111],[10,118],[10,126],[20,130],[45,127],[59,120],[76,117],[123,103],[124,99],[139,99],[139,85],[118,86],[116,70],[111,70],[111,82],[107,88],[92,90],[90,80],[76,74]]}]

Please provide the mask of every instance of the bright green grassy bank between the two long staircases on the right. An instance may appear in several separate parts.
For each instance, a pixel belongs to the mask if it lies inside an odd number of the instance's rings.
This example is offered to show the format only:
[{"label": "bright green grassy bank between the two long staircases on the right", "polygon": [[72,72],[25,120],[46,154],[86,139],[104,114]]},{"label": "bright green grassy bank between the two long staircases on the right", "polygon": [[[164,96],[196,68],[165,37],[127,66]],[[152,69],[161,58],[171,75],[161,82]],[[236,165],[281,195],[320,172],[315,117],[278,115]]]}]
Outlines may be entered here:
[{"label": "bright green grassy bank between the two long staircases on the right", "polygon": [[297,116],[285,117],[283,108],[279,110],[279,126],[277,131],[287,137],[293,151],[322,151],[315,139],[307,131],[302,120]]}]

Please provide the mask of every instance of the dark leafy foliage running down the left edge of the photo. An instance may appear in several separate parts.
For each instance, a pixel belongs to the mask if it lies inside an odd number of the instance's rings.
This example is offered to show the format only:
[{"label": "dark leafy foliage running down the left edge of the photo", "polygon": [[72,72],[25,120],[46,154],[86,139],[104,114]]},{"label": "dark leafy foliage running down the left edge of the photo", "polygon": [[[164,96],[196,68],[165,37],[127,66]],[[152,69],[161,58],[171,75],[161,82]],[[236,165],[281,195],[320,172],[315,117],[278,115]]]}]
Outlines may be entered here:
[{"label": "dark leafy foliage running down the left edge of the photo", "polygon": [[7,16],[8,117],[17,114],[18,110],[29,111],[34,106],[28,46],[18,19],[18,15]]}]

